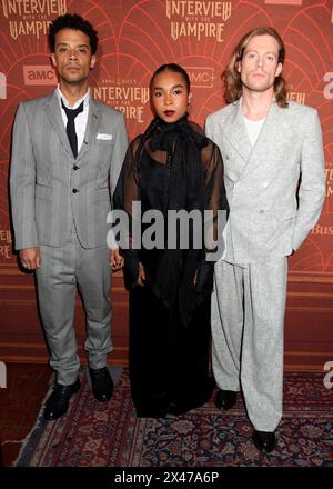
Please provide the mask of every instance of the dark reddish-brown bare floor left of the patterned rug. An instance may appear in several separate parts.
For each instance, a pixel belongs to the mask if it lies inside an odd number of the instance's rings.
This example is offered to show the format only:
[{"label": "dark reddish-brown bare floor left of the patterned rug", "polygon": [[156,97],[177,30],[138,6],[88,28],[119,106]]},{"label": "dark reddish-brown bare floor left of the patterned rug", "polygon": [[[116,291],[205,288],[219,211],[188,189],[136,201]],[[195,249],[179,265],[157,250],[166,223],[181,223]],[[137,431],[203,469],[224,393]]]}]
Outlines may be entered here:
[{"label": "dark reddish-brown bare floor left of the patterned rug", "polygon": [[0,389],[1,465],[10,467],[34,425],[49,389],[46,365],[7,363],[7,388]]}]

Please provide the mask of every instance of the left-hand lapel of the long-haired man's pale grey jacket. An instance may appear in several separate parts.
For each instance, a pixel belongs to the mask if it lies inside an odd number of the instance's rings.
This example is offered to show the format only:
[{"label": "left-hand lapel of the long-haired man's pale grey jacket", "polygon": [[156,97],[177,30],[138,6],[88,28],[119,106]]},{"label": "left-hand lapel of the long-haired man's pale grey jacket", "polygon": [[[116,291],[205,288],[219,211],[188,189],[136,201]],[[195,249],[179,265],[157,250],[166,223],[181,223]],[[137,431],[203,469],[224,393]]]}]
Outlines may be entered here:
[{"label": "left-hand lapel of the long-haired man's pale grey jacket", "polygon": [[234,103],[229,119],[224,121],[222,130],[229,142],[238,151],[245,164],[251,154],[251,143],[244,124],[242,112],[242,98]]}]

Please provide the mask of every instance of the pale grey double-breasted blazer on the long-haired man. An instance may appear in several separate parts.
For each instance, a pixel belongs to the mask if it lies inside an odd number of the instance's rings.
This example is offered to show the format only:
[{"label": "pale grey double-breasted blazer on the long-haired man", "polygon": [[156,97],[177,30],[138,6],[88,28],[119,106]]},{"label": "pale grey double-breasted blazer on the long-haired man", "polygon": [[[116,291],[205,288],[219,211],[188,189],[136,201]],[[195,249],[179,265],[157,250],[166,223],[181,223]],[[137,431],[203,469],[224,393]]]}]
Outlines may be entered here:
[{"label": "pale grey double-breasted blazer on the long-haired man", "polygon": [[295,102],[281,109],[273,101],[253,148],[242,99],[210,114],[205,130],[224,163],[230,206],[224,259],[249,263],[291,255],[317,221],[325,197],[316,110]]}]

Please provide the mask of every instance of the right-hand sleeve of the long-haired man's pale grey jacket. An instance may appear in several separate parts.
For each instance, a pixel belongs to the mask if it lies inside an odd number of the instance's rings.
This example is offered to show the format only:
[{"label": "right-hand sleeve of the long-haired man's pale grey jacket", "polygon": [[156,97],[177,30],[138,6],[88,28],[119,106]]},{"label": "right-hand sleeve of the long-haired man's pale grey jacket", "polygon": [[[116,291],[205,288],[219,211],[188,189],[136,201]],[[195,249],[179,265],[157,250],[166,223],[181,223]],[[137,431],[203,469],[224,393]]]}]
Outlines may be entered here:
[{"label": "right-hand sleeve of the long-haired man's pale grey jacket", "polygon": [[299,209],[293,234],[293,249],[300,248],[316,223],[325,199],[325,161],[322,130],[316,110],[311,111],[303,134]]}]

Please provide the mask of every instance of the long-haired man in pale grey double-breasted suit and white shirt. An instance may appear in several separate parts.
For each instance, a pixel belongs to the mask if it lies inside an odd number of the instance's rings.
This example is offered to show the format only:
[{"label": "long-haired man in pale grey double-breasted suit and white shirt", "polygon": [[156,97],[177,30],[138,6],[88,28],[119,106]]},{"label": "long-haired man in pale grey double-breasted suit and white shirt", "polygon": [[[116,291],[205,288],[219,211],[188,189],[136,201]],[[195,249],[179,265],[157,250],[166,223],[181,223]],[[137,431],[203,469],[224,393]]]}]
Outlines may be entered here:
[{"label": "long-haired man in pale grey double-breasted suit and white shirt", "polygon": [[212,298],[216,406],[230,409],[242,389],[263,452],[275,448],[282,417],[286,257],[315,224],[325,194],[319,117],[287,102],[284,54],[274,29],[246,33],[225,71],[230,104],[206,119],[230,206]]}]

